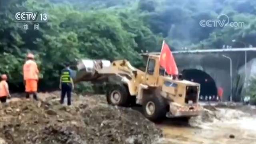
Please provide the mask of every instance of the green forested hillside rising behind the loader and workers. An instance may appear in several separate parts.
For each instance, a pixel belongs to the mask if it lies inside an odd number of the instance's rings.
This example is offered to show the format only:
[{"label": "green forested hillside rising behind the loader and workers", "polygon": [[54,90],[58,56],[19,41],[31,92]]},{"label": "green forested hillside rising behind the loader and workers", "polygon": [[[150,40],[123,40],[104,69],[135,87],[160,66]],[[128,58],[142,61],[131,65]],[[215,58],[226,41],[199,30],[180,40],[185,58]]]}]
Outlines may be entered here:
[{"label": "green forested hillside rising behind the loader and workers", "polygon": [[[44,12],[40,30],[23,30],[16,12]],[[202,19],[226,14],[243,27],[202,27]],[[165,39],[172,50],[256,45],[253,0],[0,0],[0,73],[22,83],[28,51],[36,54],[41,86],[58,86],[63,62],[75,58],[126,58],[140,65],[141,50],[160,51]],[[32,23],[31,23],[32,25]],[[46,87],[46,85],[44,85]]]}]

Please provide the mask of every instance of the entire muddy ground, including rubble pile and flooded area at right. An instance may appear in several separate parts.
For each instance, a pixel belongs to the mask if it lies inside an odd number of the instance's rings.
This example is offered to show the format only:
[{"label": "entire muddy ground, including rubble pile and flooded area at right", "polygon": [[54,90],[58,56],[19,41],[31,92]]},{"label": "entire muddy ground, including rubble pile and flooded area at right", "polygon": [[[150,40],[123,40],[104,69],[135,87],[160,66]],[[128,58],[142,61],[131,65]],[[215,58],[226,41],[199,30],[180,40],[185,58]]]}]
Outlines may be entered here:
[{"label": "entire muddy ground, including rubble pile and flooded area at right", "polygon": [[70,107],[59,104],[59,95],[40,93],[41,102],[12,98],[0,109],[0,144],[256,144],[252,106],[205,105],[189,121],[154,124],[140,108],[109,106],[102,95],[74,95]]}]

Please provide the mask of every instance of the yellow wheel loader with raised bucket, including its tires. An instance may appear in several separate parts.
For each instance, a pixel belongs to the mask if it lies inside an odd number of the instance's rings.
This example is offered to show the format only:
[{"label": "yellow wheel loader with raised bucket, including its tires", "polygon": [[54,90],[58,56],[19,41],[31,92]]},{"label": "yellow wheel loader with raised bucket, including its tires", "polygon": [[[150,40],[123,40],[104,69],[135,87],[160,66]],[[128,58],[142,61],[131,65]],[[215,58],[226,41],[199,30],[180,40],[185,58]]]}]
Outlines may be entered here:
[{"label": "yellow wheel loader with raised bucket, including its tires", "polygon": [[168,76],[160,67],[158,53],[142,54],[144,67],[134,68],[127,60],[78,62],[75,82],[107,84],[106,100],[117,106],[142,105],[146,118],[191,117],[202,111],[198,104],[200,84]]}]

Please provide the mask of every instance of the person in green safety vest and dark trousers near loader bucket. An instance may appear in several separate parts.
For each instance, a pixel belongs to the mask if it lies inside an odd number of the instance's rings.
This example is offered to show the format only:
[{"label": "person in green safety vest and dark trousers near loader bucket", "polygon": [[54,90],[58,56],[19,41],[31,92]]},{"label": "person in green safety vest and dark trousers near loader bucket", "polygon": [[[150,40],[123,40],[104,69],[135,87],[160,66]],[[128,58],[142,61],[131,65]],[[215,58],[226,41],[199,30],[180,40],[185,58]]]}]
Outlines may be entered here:
[{"label": "person in green safety vest and dark trousers near loader bucket", "polygon": [[60,74],[60,89],[61,89],[60,104],[64,103],[64,98],[67,94],[68,106],[70,106],[71,92],[74,89],[74,83],[71,77],[71,70],[68,64],[65,64],[65,68],[61,71],[61,74]]}]

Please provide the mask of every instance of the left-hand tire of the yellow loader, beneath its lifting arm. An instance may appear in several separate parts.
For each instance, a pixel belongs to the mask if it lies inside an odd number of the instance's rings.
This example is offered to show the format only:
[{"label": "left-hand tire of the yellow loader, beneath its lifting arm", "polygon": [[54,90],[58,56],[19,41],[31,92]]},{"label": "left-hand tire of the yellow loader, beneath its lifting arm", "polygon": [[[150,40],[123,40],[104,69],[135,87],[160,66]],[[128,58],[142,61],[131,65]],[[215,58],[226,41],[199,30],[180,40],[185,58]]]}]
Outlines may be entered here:
[{"label": "left-hand tire of the yellow loader, beneath its lifting arm", "polygon": [[107,92],[107,102],[111,105],[128,106],[129,105],[129,93],[124,85],[114,85]]}]

